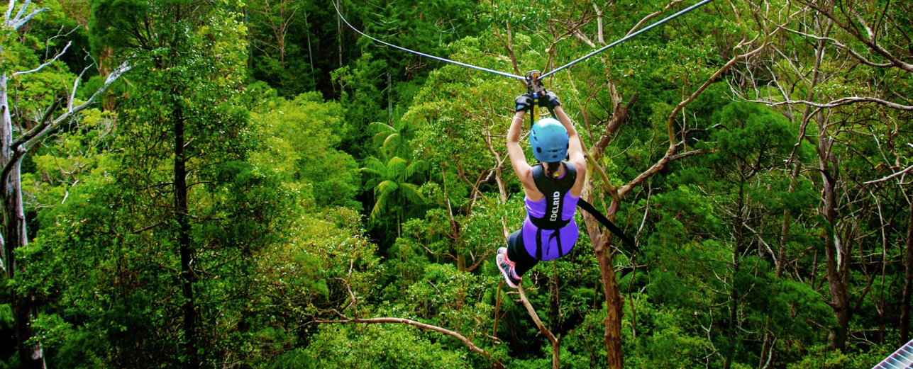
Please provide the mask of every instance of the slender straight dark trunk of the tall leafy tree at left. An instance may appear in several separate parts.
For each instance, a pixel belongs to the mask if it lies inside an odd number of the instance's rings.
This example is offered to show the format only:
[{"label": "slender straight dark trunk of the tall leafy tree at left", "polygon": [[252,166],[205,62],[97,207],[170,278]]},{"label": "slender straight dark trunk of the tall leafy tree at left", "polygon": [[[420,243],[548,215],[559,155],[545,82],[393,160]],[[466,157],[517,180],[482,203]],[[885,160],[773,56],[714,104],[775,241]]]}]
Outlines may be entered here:
[{"label": "slender straight dark trunk of the tall leafy tree at left", "polygon": [[196,312],[194,309],[194,282],[191,269],[193,250],[190,241],[190,214],[187,210],[187,168],[184,153],[184,112],[174,111],[174,218],[177,221],[177,241],[181,252],[181,290],[184,293],[184,354],[186,368],[199,368],[197,357]]}]

